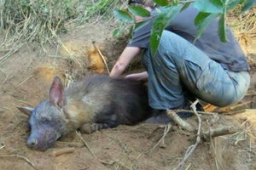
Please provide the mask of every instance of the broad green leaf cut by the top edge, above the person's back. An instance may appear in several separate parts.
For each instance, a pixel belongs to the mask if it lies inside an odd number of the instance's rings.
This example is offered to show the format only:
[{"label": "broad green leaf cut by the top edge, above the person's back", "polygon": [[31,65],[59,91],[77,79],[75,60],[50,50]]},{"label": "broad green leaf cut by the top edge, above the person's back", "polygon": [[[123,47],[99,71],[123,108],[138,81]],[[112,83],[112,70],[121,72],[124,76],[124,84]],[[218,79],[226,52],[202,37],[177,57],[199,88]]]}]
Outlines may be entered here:
[{"label": "broad green leaf cut by the top edge, above the person's back", "polygon": [[197,0],[194,7],[204,13],[223,13],[223,3],[221,0]]}]

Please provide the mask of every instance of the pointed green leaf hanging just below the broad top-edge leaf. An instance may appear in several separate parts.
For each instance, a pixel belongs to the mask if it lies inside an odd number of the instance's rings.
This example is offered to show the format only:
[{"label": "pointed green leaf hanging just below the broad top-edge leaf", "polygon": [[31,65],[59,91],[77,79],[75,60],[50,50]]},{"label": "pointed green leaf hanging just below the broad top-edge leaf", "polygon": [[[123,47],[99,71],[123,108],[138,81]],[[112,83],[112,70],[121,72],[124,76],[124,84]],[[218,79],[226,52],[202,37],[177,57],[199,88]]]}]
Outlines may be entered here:
[{"label": "pointed green leaf hanging just below the broad top-edge leaf", "polygon": [[202,32],[207,28],[208,24],[218,17],[218,14],[199,13],[195,17],[196,34],[195,41],[201,37]]}]

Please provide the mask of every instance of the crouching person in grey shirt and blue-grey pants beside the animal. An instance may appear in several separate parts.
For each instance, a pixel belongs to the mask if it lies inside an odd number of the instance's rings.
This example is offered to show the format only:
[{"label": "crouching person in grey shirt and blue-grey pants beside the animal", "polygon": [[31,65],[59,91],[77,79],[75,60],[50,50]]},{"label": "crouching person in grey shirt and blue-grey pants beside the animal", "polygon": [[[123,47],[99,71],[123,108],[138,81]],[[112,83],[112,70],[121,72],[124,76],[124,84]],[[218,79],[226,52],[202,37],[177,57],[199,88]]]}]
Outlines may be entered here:
[{"label": "crouching person in grey shirt and blue-grey pants beside the animal", "polygon": [[[152,0],[130,0],[156,15]],[[159,8],[161,9],[161,8]],[[241,101],[250,84],[249,65],[239,42],[227,26],[228,42],[218,37],[218,18],[212,20],[195,41],[194,20],[199,12],[186,8],[166,26],[156,54],[151,53],[150,31],[155,17],[135,31],[131,42],[113,66],[110,77],[119,77],[137,54],[143,50],[145,72],[126,76],[148,81],[149,105],[159,110],[148,122],[166,123],[166,109],[189,109],[189,99],[195,97],[219,107]],[[142,20],[137,18],[137,21]],[[195,41],[195,42],[194,42]],[[190,97],[189,97],[190,96]],[[200,105],[197,109],[202,111]],[[181,116],[190,116],[182,114]]]}]

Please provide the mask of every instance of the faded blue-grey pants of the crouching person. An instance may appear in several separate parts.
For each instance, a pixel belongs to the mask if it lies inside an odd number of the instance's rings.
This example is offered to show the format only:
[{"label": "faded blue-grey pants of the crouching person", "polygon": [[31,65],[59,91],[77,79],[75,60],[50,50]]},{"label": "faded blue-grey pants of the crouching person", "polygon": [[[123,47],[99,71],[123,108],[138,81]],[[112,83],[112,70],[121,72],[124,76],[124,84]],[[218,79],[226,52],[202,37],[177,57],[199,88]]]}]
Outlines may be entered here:
[{"label": "faded blue-grey pants of the crouching person", "polygon": [[219,107],[241,101],[247,93],[247,71],[227,71],[193,44],[164,31],[157,54],[150,48],[142,55],[148,71],[149,105],[172,109],[184,102],[183,83],[196,98]]}]

